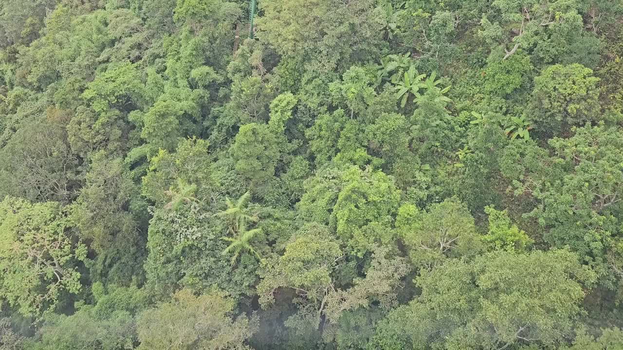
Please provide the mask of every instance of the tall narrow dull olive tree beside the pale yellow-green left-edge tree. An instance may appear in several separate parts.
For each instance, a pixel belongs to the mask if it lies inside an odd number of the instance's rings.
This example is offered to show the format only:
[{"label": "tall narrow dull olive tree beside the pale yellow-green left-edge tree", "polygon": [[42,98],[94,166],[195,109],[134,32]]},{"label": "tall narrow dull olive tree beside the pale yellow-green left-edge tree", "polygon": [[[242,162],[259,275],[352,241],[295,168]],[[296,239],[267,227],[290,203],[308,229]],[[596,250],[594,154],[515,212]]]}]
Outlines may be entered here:
[{"label": "tall narrow dull olive tree beside the pale yellow-green left-edge tree", "polygon": [[145,239],[140,224],[146,204],[139,198],[123,160],[94,153],[86,183],[70,206],[70,219],[82,240],[97,252],[90,268],[92,280],[126,285],[140,280]]}]

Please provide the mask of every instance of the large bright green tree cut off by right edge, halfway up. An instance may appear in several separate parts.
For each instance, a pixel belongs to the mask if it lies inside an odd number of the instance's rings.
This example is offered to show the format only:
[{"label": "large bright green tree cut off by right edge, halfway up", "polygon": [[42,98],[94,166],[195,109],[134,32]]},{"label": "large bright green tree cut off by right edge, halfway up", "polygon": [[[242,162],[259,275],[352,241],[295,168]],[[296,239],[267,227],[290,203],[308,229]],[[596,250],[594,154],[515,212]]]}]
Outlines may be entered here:
[{"label": "large bright green tree cut off by right edge, halfway up", "polygon": [[[568,139],[549,141],[553,156],[533,153],[533,144],[526,145],[525,150],[513,149],[513,156],[506,161],[517,163],[506,166],[506,171],[510,174],[526,166],[532,168],[514,182],[515,194],[536,200],[526,215],[549,228],[544,235],[547,242],[572,247],[601,270],[611,237],[619,233],[615,193],[623,178],[618,170],[623,160],[618,149],[622,146],[619,131],[603,125],[575,128],[574,133]],[[528,165],[532,161],[538,165]]]}]

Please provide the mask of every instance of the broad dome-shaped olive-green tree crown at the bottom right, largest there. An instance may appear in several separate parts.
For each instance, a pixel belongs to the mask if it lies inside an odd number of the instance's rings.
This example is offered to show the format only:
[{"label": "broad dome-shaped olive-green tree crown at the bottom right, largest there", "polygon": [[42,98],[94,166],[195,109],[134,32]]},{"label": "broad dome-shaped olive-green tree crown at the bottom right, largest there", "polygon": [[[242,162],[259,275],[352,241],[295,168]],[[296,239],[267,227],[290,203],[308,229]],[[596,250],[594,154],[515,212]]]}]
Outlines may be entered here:
[{"label": "broad dome-shaped olive-green tree crown at the bottom right, largest there", "polygon": [[564,250],[499,251],[473,263],[451,260],[417,279],[421,295],[388,315],[373,344],[381,349],[554,345],[578,324],[583,283],[594,280],[577,255]]}]

